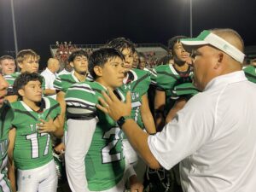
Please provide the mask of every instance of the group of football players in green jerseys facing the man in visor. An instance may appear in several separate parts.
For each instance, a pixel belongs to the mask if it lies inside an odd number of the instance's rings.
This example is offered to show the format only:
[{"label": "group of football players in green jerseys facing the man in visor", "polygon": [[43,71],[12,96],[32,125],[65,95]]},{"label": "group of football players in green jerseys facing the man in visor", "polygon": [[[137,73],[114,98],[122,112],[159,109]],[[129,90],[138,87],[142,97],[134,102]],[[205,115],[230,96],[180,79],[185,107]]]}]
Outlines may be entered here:
[{"label": "group of football players in green jerseys facing the man in visor", "polygon": [[[126,38],[115,38],[90,55],[75,50],[68,58],[70,72],[58,74],[53,88],[38,74],[39,55],[20,50],[20,72],[0,76],[0,191],[57,191],[53,154],[65,154],[72,191],[143,191],[150,168],[121,127],[125,119],[133,119],[154,135],[200,92],[182,39],[186,37],[169,40],[170,61],[152,70],[134,67],[137,52]],[[114,120],[98,108],[108,108],[99,101],[108,90],[121,102],[131,96],[128,116]],[[179,183],[177,167],[173,169]],[[151,191],[161,190],[172,191],[170,186]]]}]

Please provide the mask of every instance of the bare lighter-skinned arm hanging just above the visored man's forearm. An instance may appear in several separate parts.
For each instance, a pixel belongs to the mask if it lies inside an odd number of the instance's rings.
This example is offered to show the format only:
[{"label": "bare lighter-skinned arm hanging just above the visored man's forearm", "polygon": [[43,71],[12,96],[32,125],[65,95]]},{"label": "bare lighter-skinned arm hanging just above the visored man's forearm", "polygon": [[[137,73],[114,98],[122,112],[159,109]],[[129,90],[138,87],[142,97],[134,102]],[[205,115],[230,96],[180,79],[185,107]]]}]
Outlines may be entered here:
[{"label": "bare lighter-skinned arm hanging just above the visored man's forearm", "polygon": [[149,134],[153,134],[156,132],[154,125],[154,118],[148,106],[148,96],[144,94],[142,96],[142,106],[140,107],[143,124],[145,125],[146,131]]}]

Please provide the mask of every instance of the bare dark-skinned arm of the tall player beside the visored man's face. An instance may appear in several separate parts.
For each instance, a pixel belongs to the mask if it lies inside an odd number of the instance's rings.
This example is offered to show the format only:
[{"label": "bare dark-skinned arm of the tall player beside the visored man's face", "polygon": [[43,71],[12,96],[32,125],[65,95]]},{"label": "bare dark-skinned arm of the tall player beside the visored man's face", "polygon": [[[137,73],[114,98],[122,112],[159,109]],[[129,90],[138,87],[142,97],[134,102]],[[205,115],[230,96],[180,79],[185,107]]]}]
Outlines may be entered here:
[{"label": "bare dark-skinned arm of the tall player beside the visored man's face", "polygon": [[164,109],[166,105],[166,92],[155,90],[154,96],[154,120],[156,130],[160,131],[165,125]]}]

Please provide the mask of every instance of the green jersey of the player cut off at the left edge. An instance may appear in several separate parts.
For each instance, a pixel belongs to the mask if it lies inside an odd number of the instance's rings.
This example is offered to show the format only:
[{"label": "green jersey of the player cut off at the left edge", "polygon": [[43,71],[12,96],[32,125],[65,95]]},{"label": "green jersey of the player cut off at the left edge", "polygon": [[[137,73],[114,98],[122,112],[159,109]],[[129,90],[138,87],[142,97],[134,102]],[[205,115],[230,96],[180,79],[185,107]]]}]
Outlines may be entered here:
[{"label": "green jersey of the player cut off at the left edge", "polygon": [[7,177],[7,149],[9,145],[9,129],[14,118],[14,112],[10,108],[9,102],[4,102],[3,107],[0,108],[0,118],[0,192],[9,192],[11,189]]}]

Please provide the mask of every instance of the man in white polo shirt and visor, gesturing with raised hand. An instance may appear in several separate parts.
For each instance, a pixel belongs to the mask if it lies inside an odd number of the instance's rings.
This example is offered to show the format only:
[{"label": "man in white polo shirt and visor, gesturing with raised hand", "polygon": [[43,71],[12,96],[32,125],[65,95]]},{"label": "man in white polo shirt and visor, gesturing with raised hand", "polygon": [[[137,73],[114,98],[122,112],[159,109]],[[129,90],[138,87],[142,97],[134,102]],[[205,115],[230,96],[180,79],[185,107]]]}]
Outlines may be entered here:
[{"label": "man in white polo shirt and visor, gesturing with raised hand", "polygon": [[256,84],[241,71],[242,39],[231,29],[214,29],[181,42],[192,49],[195,84],[202,92],[163,131],[149,136],[127,116],[129,96],[119,102],[108,90],[97,107],[117,120],[152,168],[169,170],[181,161],[183,191],[255,192]]}]

